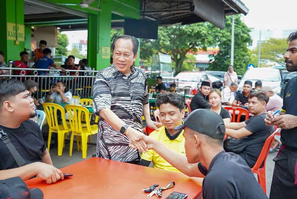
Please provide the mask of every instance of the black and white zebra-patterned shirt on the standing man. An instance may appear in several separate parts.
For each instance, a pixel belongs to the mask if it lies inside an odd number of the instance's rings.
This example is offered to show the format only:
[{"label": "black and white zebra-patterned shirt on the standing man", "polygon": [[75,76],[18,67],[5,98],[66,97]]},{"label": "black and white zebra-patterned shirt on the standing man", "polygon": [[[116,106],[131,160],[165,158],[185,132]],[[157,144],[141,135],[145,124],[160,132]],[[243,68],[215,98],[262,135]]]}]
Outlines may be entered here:
[{"label": "black and white zebra-patterned shirt on the standing man", "polygon": [[[108,108],[130,127],[143,132],[143,105],[149,103],[147,77],[143,70],[131,67],[127,77],[111,65],[97,72],[93,90],[93,110],[99,116]],[[103,118],[99,120],[97,157],[121,162],[140,159],[140,152],[130,148],[129,138],[111,127]]]}]

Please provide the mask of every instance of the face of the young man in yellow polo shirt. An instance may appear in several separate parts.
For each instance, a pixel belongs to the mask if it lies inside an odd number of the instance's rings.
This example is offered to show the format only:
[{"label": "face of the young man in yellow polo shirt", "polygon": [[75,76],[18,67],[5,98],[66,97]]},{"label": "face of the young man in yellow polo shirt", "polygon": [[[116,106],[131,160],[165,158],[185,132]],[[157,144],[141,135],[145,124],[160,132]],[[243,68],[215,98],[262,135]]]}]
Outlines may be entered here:
[{"label": "face of the young man in yellow polo shirt", "polygon": [[176,106],[166,103],[160,104],[160,121],[167,130],[173,130],[176,126],[181,124],[185,111],[180,111]]}]

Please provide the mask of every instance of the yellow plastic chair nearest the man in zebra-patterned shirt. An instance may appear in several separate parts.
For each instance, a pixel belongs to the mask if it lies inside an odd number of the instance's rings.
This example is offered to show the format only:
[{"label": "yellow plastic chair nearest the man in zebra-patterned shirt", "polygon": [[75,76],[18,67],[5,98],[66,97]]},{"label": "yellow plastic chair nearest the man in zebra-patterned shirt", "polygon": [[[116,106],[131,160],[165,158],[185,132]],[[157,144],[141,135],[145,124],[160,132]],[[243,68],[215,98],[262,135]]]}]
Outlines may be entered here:
[{"label": "yellow plastic chair nearest the man in zebra-patterned shirt", "polygon": [[89,110],[85,107],[78,105],[66,105],[65,108],[68,113],[69,123],[72,129],[69,156],[72,156],[73,139],[74,135],[76,135],[76,137],[81,137],[81,148],[83,152],[82,157],[86,158],[88,136],[97,134],[97,125],[90,125],[89,117],[85,117],[86,124],[82,123],[82,116],[89,115]]}]

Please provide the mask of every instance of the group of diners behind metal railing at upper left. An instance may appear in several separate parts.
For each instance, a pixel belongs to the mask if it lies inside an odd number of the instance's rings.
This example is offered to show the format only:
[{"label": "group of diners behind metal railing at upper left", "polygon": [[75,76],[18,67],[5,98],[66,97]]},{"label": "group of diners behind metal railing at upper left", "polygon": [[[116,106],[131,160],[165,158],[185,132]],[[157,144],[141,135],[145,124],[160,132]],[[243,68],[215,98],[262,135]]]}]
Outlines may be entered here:
[{"label": "group of diners behind metal railing at upper left", "polygon": [[[75,56],[69,55],[68,58],[65,60],[64,64],[61,66],[57,66],[52,59],[51,56],[52,51],[47,48],[47,42],[45,40],[40,40],[39,48],[34,50],[35,60],[34,64],[30,68],[36,69],[57,69],[61,70],[60,75],[68,75],[66,70],[91,70],[91,67],[88,66],[87,59],[81,59],[79,64],[75,64]],[[0,75],[8,75],[9,70],[1,69],[1,67],[8,67],[4,61],[4,53],[0,51]],[[29,64],[31,62],[29,60],[29,54],[27,51],[20,52],[20,60],[15,60],[12,62],[13,68],[24,68],[28,69]],[[31,75],[32,72],[29,70],[14,70],[13,75]],[[38,75],[47,75],[48,71],[39,71]],[[83,75],[83,72],[77,73],[75,71],[71,71],[69,73],[71,76],[75,75]]]}]

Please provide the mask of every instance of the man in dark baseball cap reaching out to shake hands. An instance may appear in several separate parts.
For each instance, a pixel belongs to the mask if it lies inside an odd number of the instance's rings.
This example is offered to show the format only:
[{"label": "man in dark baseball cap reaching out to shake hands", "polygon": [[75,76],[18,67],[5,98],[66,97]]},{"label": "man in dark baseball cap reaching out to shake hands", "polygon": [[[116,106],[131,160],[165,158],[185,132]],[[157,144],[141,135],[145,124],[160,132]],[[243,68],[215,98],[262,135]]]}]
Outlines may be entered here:
[{"label": "man in dark baseball cap reaching out to shake hands", "polygon": [[[217,113],[206,109],[194,110],[184,124],[175,128],[180,129],[184,129],[187,157],[146,135],[141,139],[149,149],[156,151],[184,174],[205,176],[203,199],[267,198],[247,163],[238,155],[224,151],[225,125]],[[132,144],[129,146],[135,147]]]}]

